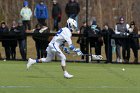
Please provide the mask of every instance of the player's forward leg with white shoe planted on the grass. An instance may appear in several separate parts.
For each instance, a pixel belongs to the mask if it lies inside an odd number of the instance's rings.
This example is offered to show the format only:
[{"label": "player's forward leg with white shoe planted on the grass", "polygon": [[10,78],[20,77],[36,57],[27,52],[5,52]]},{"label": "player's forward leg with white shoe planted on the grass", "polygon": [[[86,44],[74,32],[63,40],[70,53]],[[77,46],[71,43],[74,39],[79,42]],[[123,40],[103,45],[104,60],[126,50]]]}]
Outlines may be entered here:
[{"label": "player's forward leg with white shoe planted on the grass", "polygon": [[61,60],[61,67],[62,67],[62,70],[64,72],[64,77],[65,78],[72,78],[73,75],[69,74],[66,70],[66,56],[60,52],[60,53],[57,53],[57,56],[60,58]]}]

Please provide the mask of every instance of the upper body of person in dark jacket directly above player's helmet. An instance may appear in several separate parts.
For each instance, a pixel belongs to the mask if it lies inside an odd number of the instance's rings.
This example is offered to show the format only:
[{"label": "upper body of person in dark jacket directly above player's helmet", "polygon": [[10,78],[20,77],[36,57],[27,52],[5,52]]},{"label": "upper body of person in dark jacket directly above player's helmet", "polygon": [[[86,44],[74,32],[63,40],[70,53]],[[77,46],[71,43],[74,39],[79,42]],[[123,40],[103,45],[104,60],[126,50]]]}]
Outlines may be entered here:
[{"label": "upper body of person in dark jacket directly above player's helmet", "polygon": [[71,17],[75,19],[80,12],[79,3],[76,2],[76,0],[69,0],[69,2],[66,4],[65,12],[68,18]]}]

